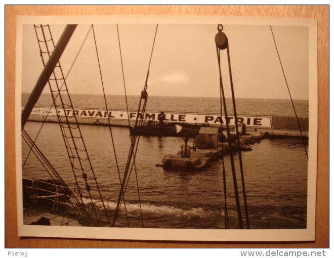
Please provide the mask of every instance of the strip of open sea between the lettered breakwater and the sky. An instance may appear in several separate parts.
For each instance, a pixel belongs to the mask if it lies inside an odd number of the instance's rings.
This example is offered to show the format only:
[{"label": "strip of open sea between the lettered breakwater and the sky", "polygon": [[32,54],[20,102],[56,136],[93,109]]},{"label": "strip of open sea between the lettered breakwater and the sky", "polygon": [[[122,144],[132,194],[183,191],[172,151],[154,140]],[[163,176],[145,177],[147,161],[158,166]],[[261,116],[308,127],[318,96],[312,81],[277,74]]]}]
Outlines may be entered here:
[{"label": "strip of open sea between the lettered breakwater and the sky", "polygon": [[[28,93],[22,94],[22,106],[29,98]],[[138,110],[140,96],[106,95],[109,110]],[[106,109],[103,95],[71,94],[71,102],[74,108]],[[295,117],[291,100],[287,99],[245,99],[236,98],[236,110],[238,115],[271,115]],[[36,107],[51,107],[50,94],[42,94]],[[128,107],[127,107],[128,103]],[[309,116],[308,100],[293,100],[298,117]],[[233,114],[232,99],[226,98],[227,113]],[[220,98],[207,97],[171,97],[148,96],[146,111],[163,112],[193,112],[220,114]]]}]

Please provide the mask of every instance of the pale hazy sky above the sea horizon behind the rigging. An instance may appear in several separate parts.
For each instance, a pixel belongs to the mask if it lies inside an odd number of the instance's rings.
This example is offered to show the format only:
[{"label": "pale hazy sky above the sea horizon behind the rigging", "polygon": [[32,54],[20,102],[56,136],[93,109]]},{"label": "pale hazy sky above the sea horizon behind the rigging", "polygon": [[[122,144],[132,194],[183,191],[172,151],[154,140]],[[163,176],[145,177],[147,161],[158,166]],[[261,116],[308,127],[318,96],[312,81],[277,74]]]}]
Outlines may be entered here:
[{"label": "pale hazy sky above the sea horizon behind the rigging", "polygon": [[[235,97],[289,99],[270,26],[223,26],[229,40]],[[50,25],[50,28],[57,42],[65,25]],[[156,24],[119,24],[119,48],[116,24],[94,25],[106,94],[124,95],[121,60],[127,94],[140,94],[155,30]],[[291,96],[309,99],[308,27],[275,25],[272,30]],[[217,24],[159,24],[149,69],[148,94],[219,97],[217,32]],[[31,92],[43,69],[32,24],[23,25],[22,41],[22,92]],[[231,97],[226,50],[221,51],[221,62],[225,96]],[[60,64],[64,74],[68,74],[66,82],[71,94],[103,94],[91,24],[76,27]]]}]

